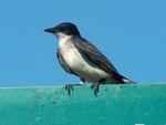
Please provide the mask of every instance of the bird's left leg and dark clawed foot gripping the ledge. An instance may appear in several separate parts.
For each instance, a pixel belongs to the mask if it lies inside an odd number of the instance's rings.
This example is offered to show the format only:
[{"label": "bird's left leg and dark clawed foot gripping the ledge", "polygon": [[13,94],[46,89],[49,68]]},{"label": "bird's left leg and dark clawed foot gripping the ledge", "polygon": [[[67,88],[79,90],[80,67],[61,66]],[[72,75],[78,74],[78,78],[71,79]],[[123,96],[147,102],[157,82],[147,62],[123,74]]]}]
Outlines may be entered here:
[{"label": "bird's left leg and dark clawed foot gripping the ledge", "polygon": [[68,94],[71,96],[71,91],[74,91],[73,86],[84,85],[85,81],[83,79],[80,79],[81,82],[77,84],[66,84],[65,90],[68,91]]}]

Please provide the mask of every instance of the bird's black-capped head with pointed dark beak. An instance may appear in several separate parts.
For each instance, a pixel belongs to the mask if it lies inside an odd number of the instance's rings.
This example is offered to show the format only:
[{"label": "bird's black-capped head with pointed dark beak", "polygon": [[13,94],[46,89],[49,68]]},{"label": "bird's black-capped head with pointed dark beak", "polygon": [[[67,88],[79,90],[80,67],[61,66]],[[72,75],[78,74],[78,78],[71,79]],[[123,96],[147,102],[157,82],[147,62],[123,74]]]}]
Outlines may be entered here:
[{"label": "bird's black-capped head with pointed dark beak", "polygon": [[55,37],[58,37],[58,39],[69,35],[80,35],[76,25],[70,22],[63,22],[61,24],[55,25],[54,28],[45,29],[44,31],[53,33]]}]

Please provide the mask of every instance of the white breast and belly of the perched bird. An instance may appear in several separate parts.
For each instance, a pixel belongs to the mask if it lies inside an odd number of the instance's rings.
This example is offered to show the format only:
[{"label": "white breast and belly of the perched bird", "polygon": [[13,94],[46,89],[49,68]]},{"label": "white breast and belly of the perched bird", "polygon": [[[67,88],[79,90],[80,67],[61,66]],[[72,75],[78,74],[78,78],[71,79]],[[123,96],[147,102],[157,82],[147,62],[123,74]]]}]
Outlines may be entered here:
[{"label": "white breast and belly of the perched bird", "polygon": [[[60,51],[70,69],[76,73],[80,77],[89,82],[98,82],[102,77],[108,77],[110,74],[85,61],[82,55],[74,48],[71,38],[60,40]],[[91,64],[90,64],[91,63]]]}]

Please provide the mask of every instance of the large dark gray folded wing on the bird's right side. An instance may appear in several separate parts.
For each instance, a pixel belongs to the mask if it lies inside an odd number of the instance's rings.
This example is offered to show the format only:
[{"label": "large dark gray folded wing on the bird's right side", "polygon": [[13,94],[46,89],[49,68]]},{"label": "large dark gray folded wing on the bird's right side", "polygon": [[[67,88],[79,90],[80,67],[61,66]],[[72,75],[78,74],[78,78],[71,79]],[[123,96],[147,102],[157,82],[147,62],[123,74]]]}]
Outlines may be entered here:
[{"label": "large dark gray folded wing on the bird's right side", "polygon": [[84,54],[91,62],[104,70],[106,73],[111,74],[118,82],[123,83],[123,77],[118,74],[113,64],[92,43],[81,37],[74,37],[72,41],[77,51]]}]

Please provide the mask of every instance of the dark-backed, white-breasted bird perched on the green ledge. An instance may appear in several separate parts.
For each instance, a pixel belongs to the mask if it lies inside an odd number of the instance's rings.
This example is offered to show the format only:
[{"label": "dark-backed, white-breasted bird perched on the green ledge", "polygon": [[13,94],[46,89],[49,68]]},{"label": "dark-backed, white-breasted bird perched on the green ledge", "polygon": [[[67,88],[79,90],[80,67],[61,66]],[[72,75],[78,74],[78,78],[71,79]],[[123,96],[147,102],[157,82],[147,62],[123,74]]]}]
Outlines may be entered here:
[{"label": "dark-backed, white-breasted bird perched on the green ledge", "polygon": [[128,84],[132,80],[121,75],[108,59],[92,42],[84,39],[77,27],[71,22],[62,22],[44,30],[58,38],[56,58],[63,70],[80,77],[79,84],[66,84],[71,95],[74,85],[92,83],[91,88],[97,96],[101,84]]}]

